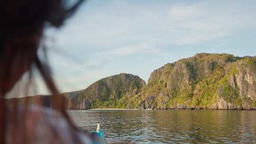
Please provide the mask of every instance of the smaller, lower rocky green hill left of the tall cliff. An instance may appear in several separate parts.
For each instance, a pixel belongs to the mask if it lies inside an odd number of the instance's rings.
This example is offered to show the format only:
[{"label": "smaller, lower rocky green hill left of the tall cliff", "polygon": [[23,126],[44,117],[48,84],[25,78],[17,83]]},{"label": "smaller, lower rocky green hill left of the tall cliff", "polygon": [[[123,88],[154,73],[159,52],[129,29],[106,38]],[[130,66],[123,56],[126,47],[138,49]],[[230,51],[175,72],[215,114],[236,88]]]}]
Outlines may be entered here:
[{"label": "smaller, lower rocky green hill left of the tall cliff", "polygon": [[[69,109],[122,107],[120,99],[136,95],[145,85],[138,76],[126,73],[94,82],[85,90],[64,93]],[[119,105],[118,105],[119,104]]]}]

